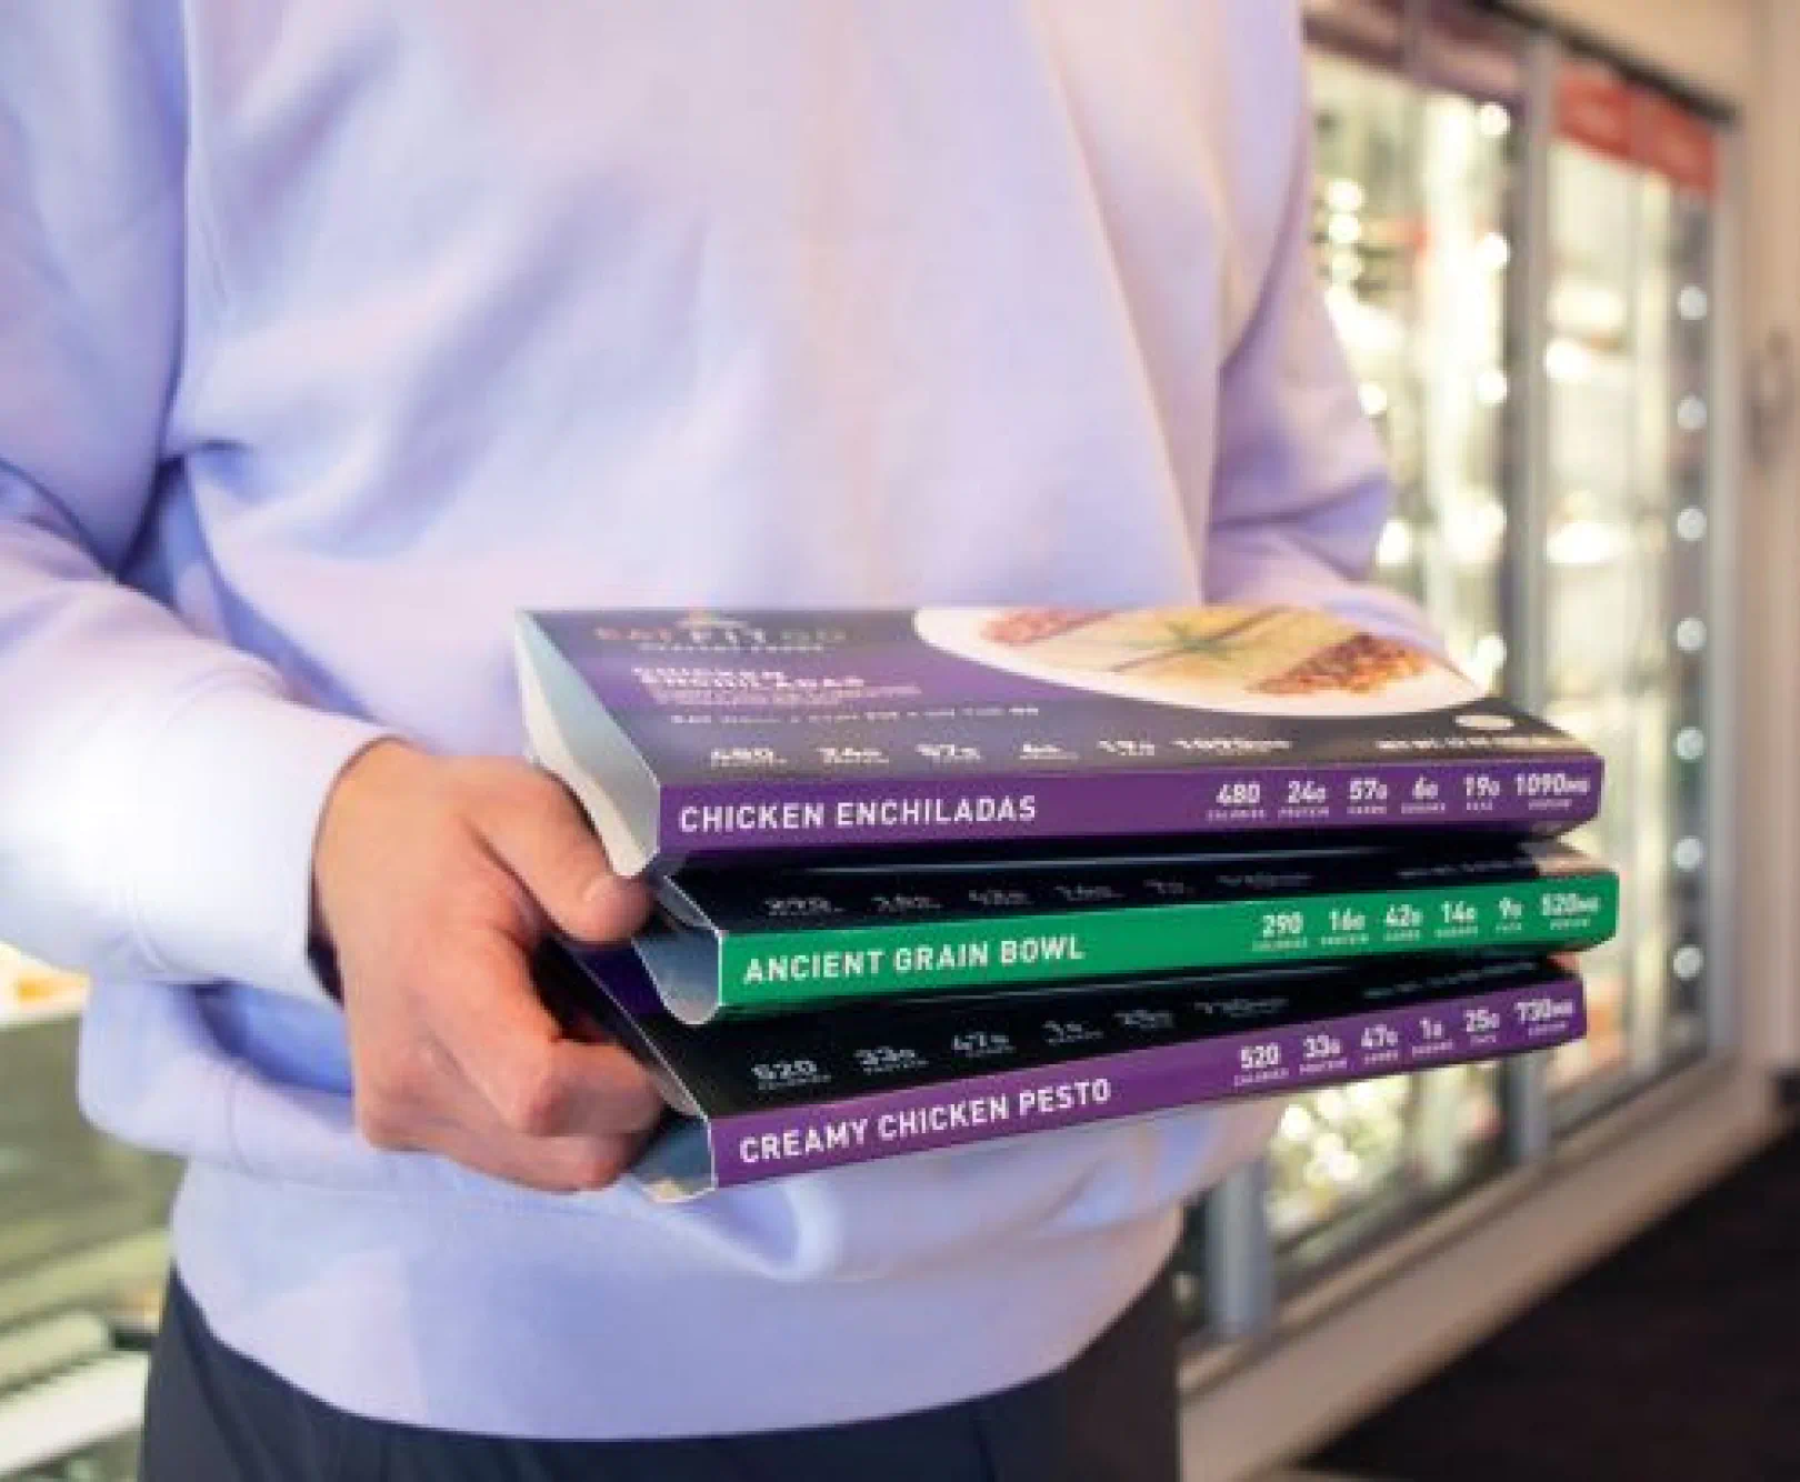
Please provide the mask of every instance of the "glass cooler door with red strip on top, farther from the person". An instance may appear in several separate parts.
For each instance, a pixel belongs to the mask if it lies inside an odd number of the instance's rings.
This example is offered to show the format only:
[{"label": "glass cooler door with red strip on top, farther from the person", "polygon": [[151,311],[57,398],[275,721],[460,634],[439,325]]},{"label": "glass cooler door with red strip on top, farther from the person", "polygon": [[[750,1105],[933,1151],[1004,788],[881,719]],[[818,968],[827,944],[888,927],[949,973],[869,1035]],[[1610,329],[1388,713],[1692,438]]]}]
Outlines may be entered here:
[{"label": "glass cooler door with red strip on top, farther from the person", "polygon": [[1598,747],[1575,843],[1624,882],[1589,1035],[1550,1066],[1570,1125],[1703,1052],[1710,128],[1575,61],[1552,148],[1546,709]]}]

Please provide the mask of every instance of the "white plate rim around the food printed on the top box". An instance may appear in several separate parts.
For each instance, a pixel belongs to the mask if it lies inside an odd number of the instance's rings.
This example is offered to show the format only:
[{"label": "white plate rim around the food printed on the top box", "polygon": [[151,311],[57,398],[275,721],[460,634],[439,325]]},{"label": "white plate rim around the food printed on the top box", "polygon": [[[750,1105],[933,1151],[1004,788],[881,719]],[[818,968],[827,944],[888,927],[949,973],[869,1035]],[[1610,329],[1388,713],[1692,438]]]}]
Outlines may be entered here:
[{"label": "white plate rim around the food printed on the top box", "polygon": [[1408,715],[1413,711],[1449,709],[1483,697],[1483,690],[1440,659],[1427,657],[1424,673],[1390,681],[1368,693],[1314,690],[1305,695],[1267,695],[1219,679],[1107,673],[1103,670],[1075,668],[1035,657],[1030,650],[997,643],[985,628],[1015,609],[1008,607],[922,607],[913,625],[920,639],[954,654],[958,659],[988,668],[1112,695],[1150,704],[1183,706],[1184,709],[1226,711],[1231,715],[1276,715],[1296,718]]}]

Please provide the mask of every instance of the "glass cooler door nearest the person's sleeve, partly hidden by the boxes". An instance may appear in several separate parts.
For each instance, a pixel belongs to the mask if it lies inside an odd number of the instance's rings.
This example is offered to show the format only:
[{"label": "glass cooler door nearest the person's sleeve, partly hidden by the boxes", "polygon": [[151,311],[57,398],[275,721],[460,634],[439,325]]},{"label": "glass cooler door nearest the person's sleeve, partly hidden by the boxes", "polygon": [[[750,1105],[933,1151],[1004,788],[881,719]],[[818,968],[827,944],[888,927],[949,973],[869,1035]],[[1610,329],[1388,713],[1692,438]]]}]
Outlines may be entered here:
[{"label": "glass cooler door nearest the person's sleeve, partly hidden by the boxes", "polygon": [[[1436,5],[1417,47],[1402,27],[1382,52],[1370,7],[1350,7],[1354,29],[1334,23],[1341,9],[1312,9],[1314,241],[1397,484],[1379,576],[1426,607],[1465,670],[1503,688],[1519,47],[1496,22]],[[1492,1066],[1292,1102],[1267,1169],[1282,1277],[1305,1279],[1485,1176],[1501,1131]]]}]

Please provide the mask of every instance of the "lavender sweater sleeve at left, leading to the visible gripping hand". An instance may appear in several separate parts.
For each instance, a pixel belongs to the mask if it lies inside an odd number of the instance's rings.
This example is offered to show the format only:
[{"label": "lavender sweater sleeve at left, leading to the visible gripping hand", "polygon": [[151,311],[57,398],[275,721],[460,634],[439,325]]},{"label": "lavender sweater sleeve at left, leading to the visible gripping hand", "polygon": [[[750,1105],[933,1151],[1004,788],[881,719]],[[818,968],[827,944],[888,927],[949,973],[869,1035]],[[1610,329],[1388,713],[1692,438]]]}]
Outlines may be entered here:
[{"label": "lavender sweater sleeve at left, leading to the visible gripping hand", "polygon": [[178,16],[0,9],[0,938],[315,994],[313,834],[378,731],[119,580],[171,472],[198,250]]}]

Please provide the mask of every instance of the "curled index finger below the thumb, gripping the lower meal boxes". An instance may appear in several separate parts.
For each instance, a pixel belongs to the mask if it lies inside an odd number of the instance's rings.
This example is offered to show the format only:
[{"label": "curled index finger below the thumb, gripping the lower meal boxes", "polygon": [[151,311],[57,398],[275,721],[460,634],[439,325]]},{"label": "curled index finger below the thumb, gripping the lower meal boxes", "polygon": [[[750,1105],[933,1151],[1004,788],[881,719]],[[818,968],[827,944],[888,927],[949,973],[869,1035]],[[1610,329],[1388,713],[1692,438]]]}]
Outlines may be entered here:
[{"label": "curled index finger below the thumb, gripping the lower meal boxes", "polygon": [[502,936],[464,945],[428,990],[432,1034],[508,1131],[641,1133],[662,1100],[616,1044],[569,1039],[538,999],[524,954]]}]

